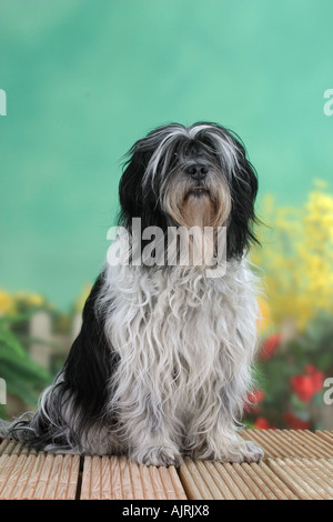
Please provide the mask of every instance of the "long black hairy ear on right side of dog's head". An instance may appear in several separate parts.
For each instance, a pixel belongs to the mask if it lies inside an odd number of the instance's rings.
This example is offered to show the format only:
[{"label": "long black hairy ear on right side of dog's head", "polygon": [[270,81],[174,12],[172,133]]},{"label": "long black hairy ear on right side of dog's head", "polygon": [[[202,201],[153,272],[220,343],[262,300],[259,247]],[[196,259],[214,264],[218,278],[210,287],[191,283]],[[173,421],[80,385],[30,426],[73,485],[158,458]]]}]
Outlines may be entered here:
[{"label": "long black hairy ear on right side of dog's head", "polygon": [[232,209],[226,231],[228,259],[242,257],[251,243],[259,243],[253,227],[258,222],[254,202],[258,178],[241,142],[236,142],[238,162],[230,181]]}]

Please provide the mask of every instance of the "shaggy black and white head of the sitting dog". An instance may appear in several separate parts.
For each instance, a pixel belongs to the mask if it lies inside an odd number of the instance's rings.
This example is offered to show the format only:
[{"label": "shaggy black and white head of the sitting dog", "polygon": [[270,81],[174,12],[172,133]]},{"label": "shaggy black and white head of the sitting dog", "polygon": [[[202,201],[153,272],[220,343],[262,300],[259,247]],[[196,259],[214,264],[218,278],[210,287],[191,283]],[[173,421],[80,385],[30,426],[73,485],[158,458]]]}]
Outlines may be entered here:
[{"label": "shaggy black and white head of the sitting dog", "polygon": [[244,145],[216,123],[159,127],[137,141],[120,181],[120,224],[226,227],[226,255],[256,241],[256,173]]}]

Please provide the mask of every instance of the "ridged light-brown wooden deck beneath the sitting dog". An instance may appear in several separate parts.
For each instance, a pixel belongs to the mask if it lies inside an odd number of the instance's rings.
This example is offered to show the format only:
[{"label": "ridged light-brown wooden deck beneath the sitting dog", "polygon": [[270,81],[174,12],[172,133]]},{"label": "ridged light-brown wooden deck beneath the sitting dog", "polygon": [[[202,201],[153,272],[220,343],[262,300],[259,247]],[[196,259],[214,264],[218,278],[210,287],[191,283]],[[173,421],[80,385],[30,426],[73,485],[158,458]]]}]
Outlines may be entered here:
[{"label": "ridged light-brown wooden deck beneath the sitting dog", "polygon": [[0,500],[333,500],[333,431],[246,430],[256,464],[186,459],[179,468],[124,456],[54,455],[0,444]]}]

